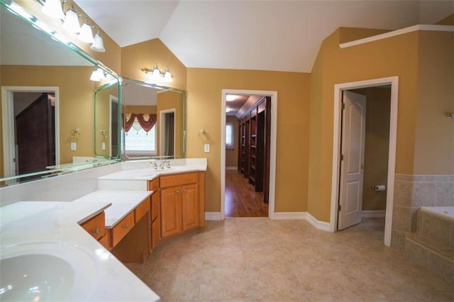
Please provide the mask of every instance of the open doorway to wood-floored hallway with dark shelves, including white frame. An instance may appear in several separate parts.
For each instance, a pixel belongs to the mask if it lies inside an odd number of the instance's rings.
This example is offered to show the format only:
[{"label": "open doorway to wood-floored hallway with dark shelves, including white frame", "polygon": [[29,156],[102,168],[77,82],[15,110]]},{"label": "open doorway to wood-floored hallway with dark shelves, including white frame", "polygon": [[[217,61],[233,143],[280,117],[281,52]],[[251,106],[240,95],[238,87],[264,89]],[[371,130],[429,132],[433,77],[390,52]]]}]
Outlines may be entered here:
[{"label": "open doorway to wood-floored hallway with dark shelves, including white frame", "polygon": [[[232,100],[238,98],[243,98],[243,103],[235,109],[238,113],[227,114],[231,111]],[[233,116],[233,123],[232,118],[228,116]],[[277,91],[222,90],[221,215],[219,219],[223,220],[226,216],[233,215],[234,217],[265,216],[271,219],[274,217],[276,134]],[[228,159],[231,155],[233,160]],[[229,183],[226,181],[227,177],[229,177]],[[242,186],[243,190],[238,190]],[[234,188],[235,191],[228,191],[228,187]],[[245,196],[251,198],[246,199]],[[242,205],[240,208],[248,208],[248,213],[238,211],[239,213],[233,214],[231,207],[233,203],[227,207],[226,198],[239,198],[242,202],[255,200],[260,203],[258,206],[235,203]],[[258,208],[260,210],[255,212],[254,209]]]}]

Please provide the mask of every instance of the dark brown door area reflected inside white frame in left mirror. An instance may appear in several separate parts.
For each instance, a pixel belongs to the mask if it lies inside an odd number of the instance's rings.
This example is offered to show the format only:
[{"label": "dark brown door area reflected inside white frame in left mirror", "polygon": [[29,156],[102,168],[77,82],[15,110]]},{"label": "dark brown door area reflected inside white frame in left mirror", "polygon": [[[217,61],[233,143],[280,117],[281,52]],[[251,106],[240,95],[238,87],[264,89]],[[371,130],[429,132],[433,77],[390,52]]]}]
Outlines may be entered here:
[{"label": "dark brown door area reflected inside white frame in left mirror", "polygon": [[55,165],[55,95],[13,92],[13,114],[16,175]]}]

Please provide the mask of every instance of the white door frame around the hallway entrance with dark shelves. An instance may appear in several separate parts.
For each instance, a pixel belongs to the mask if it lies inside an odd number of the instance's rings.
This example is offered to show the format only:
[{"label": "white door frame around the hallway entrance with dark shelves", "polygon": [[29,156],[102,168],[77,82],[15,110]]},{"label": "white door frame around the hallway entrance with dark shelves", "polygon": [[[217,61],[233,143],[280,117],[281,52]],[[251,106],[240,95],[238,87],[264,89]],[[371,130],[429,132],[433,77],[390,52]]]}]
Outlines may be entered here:
[{"label": "white door frame around the hallway entrance with dark shelves", "polygon": [[[265,214],[268,218],[273,218],[275,213],[275,170],[276,170],[276,133],[277,133],[277,91],[249,91],[249,90],[222,90],[221,106],[221,213],[218,217],[209,217],[209,219],[223,220],[226,216],[226,96],[265,96],[270,103],[270,133],[269,140],[269,177],[267,183],[263,183],[264,191],[267,191],[268,208]],[[256,118],[259,118],[257,115]],[[262,118],[262,116],[260,116]],[[256,121],[257,123],[257,121]],[[240,167],[238,165],[238,167]],[[243,178],[244,178],[243,174]],[[250,181],[250,174],[247,174],[247,182]],[[254,174],[255,175],[255,174]],[[252,181],[252,180],[251,180]],[[253,179],[255,182],[255,179]],[[260,197],[261,198],[261,197]]]}]

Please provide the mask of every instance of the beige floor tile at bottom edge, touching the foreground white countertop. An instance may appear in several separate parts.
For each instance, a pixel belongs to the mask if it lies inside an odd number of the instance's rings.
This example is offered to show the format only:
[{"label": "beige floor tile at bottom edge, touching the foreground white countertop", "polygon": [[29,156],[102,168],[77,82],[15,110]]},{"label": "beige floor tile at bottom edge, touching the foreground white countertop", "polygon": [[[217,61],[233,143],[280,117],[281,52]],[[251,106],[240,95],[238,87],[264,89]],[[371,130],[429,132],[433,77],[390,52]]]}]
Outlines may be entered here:
[{"label": "beige floor tile at bottom edge, touching the foreground white countertop", "polygon": [[196,300],[199,296],[200,275],[200,269],[157,268],[148,286],[163,299]]}]

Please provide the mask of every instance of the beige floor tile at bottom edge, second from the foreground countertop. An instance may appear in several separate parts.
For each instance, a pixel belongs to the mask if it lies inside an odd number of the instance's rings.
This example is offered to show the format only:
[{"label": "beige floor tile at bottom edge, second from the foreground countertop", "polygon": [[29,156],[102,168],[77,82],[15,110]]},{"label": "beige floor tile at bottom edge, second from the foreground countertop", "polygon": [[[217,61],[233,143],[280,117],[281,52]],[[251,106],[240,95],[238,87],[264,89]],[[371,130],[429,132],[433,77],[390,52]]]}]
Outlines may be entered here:
[{"label": "beige floor tile at bottom edge, second from the foreground countertop", "polygon": [[248,272],[244,268],[203,269],[199,299],[248,299],[251,296]]}]

